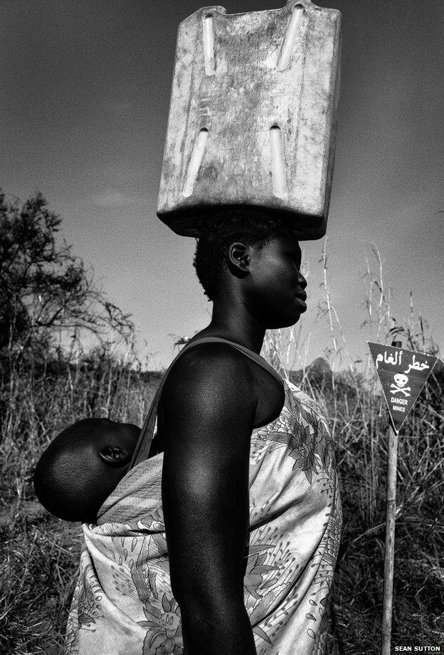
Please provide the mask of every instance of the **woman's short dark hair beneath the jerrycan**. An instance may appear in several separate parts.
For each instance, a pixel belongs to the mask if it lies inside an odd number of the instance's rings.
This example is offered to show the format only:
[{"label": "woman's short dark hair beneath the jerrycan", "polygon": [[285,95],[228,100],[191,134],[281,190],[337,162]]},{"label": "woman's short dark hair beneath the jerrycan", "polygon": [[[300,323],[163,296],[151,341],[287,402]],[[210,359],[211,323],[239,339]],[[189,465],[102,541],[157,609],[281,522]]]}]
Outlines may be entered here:
[{"label": "woman's short dark hair beneath the jerrycan", "polygon": [[282,234],[291,234],[288,219],[260,209],[221,209],[201,220],[193,266],[208,300],[213,300],[218,292],[223,268],[227,266],[227,248],[233,241],[263,248]]}]

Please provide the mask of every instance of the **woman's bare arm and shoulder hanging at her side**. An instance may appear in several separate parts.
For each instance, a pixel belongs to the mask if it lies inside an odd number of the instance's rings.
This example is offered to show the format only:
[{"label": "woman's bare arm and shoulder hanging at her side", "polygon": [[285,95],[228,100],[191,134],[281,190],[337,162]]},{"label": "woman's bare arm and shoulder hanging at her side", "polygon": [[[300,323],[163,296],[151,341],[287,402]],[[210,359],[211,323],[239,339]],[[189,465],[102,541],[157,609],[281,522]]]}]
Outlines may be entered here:
[{"label": "woman's bare arm and shoulder hanging at her side", "polygon": [[256,404],[245,357],[220,344],[184,353],[162,392],[162,501],[186,655],[256,652],[243,602]]}]

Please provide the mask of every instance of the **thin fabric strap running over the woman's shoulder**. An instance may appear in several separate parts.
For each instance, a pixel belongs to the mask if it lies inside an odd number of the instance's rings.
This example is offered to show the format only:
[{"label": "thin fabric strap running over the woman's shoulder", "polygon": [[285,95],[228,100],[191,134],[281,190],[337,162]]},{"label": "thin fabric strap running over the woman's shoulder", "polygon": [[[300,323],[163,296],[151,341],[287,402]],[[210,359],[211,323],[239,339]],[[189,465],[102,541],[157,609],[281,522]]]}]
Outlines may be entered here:
[{"label": "thin fabric strap running over the woman's shoulder", "polygon": [[159,384],[159,388],[157,389],[156,394],[154,395],[154,398],[152,399],[152,404],[149,407],[147,418],[144,420],[144,424],[142,426],[142,429],[140,431],[139,439],[137,440],[136,447],[134,449],[134,453],[132,454],[132,460],[131,463],[129,464],[128,470],[133,468],[136,463],[139,463],[139,461],[142,461],[144,459],[147,459],[148,454],[149,454],[149,449],[151,447],[151,442],[153,439],[154,435],[154,426],[156,423],[156,416],[157,416],[157,407],[159,405],[159,399],[162,394],[162,389],[164,388],[164,384],[166,382],[166,378],[168,377],[169,372],[171,371],[171,368],[174,366],[176,361],[183,355],[184,352],[191,350],[191,348],[194,348],[195,346],[201,345],[203,343],[226,343],[228,345],[231,345],[233,348],[236,348],[239,352],[243,352],[246,357],[248,357],[250,360],[255,362],[255,364],[258,364],[260,367],[265,369],[270,375],[273,375],[275,379],[277,379],[280,384],[282,384],[282,387],[284,386],[284,380],[278,374],[275,369],[266,362],[263,357],[260,357],[256,352],[253,352],[253,350],[250,350],[249,348],[240,345],[240,343],[236,343],[235,341],[230,341],[228,339],[223,339],[223,337],[199,337],[198,339],[195,339],[194,341],[191,341],[187,343],[179,352],[176,357],[174,357],[174,360],[171,362],[169,367],[166,369],[166,372],[164,373],[164,376],[162,377],[162,380]]}]

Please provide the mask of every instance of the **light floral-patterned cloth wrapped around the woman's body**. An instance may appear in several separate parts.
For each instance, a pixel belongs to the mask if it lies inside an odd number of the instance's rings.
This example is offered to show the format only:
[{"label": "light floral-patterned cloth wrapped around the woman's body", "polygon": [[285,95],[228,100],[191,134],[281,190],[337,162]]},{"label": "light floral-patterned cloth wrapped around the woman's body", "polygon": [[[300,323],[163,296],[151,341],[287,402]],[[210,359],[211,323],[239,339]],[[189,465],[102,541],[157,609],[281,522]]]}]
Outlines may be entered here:
[{"label": "light floral-patterned cloth wrapped around the woman's body", "polygon": [[[162,454],[142,461],[83,525],[65,655],[181,655],[161,499]],[[319,405],[285,380],[285,404],[250,446],[245,607],[258,655],[322,655],[342,512]]]}]

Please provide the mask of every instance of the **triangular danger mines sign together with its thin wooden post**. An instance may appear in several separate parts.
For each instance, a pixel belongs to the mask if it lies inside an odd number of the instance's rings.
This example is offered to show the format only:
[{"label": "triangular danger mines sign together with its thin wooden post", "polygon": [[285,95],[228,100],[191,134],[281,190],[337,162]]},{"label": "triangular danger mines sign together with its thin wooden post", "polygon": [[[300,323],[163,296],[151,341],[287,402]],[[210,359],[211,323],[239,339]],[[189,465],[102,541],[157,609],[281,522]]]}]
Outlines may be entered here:
[{"label": "triangular danger mines sign together with its thin wooden post", "polygon": [[391,346],[367,342],[381,382],[391,425],[388,428],[388,467],[386,489],[386,544],[382,604],[382,655],[390,655],[391,616],[396,524],[396,471],[398,432],[406,420],[436,363],[436,357],[416,350],[403,350],[400,341]]}]

